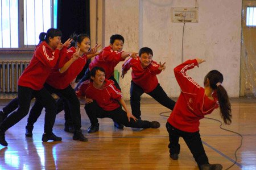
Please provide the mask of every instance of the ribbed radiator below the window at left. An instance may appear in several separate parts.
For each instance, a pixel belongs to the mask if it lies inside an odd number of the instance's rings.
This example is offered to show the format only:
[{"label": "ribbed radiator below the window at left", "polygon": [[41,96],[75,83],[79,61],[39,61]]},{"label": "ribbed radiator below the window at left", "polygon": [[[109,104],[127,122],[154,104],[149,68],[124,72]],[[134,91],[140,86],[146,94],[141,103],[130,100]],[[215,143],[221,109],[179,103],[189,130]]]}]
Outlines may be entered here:
[{"label": "ribbed radiator below the window at left", "polygon": [[0,61],[1,91],[18,92],[18,79],[30,61]]}]

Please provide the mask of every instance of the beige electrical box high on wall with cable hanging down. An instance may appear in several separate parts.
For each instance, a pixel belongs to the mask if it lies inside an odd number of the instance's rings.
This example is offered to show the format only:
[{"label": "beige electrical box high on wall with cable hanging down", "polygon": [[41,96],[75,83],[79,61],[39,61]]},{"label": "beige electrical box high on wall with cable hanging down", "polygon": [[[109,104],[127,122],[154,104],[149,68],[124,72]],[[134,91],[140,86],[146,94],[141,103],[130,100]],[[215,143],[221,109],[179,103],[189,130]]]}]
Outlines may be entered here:
[{"label": "beige electrical box high on wall with cable hanging down", "polygon": [[198,8],[171,8],[171,22],[198,23]]}]

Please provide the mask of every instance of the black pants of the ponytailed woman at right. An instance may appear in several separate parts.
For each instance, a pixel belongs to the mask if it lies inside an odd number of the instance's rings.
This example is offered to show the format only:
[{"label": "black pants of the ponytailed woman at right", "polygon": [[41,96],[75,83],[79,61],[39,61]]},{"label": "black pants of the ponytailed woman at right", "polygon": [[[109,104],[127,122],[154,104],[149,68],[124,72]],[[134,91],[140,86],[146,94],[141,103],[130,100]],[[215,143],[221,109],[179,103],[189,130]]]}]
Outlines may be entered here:
[{"label": "black pants of the ponytailed woman at right", "polygon": [[197,132],[185,132],[173,127],[169,122],[166,123],[167,131],[169,132],[170,154],[180,153],[179,138],[182,137],[187,144],[189,150],[193,154],[197,165],[209,164],[208,157],[205,154],[204,146],[200,138],[199,131]]}]

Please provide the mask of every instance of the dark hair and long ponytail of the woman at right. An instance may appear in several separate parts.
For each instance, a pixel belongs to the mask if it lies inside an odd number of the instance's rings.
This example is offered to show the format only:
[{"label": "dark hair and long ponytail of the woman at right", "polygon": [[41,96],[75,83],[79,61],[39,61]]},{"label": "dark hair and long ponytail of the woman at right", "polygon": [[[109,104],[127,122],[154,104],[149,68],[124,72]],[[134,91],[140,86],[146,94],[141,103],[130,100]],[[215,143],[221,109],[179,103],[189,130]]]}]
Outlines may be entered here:
[{"label": "dark hair and long ponytail of the woman at right", "polygon": [[232,122],[232,114],[229,96],[224,87],[220,85],[223,81],[223,75],[220,72],[213,70],[205,76],[204,82],[207,81],[207,78],[209,79],[210,82],[210,88],[212,88],[213,90],[217,89],[221,118],[223,119],[225,124],[230,125],[230,123]]}]

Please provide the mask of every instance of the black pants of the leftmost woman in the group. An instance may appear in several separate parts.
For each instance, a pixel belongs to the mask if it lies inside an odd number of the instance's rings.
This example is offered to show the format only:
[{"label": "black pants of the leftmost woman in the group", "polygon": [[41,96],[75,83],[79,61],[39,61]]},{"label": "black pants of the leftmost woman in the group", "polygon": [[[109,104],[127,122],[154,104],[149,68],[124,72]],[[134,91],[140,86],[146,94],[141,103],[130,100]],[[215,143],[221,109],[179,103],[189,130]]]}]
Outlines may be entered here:
[{"label": "black pants of the leftmost woman in the group", "polygon": [[46,107],[46,122],[44,125],[44,132],[52,132],[52,127],[56,118],[56,102],[52,98],[51,94],[43,88],[41,90],[33,90],[28,87],[18,86],[18,110],[9,115],[0,125],[0,129],[6,131],[10,127],[18,123],[24,118],[30,110],[30,102],[33,96],[36,99],[42,101],[44,107]]}]

